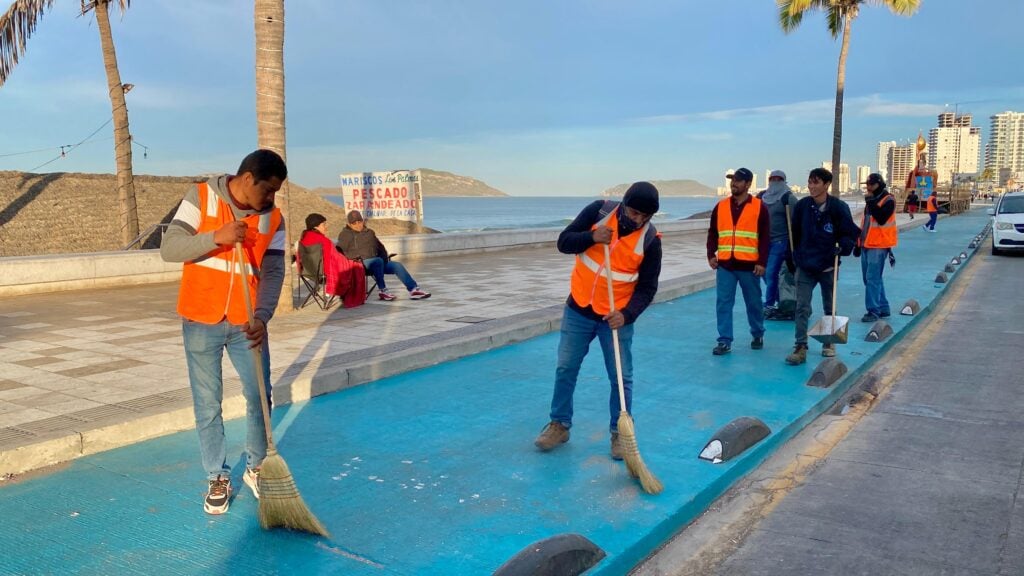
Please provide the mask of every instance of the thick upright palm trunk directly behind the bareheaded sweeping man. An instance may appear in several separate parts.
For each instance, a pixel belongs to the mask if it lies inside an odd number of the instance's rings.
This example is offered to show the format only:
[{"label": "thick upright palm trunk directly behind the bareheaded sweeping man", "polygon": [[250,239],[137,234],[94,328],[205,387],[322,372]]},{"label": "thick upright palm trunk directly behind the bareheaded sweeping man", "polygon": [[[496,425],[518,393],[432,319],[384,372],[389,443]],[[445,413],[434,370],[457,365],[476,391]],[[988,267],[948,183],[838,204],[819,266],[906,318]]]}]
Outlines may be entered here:
[{"label": "thick upright palm trunk directly behind the bareheaded sweeping man", "polygon": [[[285,0],[255,0],[256,23],[256,136],[259,148],[285,152]],[[285,220],[285,288],[278,312],[295,308],[292,262],[292,221],[289,218],[288,180],[274,200]]]}]

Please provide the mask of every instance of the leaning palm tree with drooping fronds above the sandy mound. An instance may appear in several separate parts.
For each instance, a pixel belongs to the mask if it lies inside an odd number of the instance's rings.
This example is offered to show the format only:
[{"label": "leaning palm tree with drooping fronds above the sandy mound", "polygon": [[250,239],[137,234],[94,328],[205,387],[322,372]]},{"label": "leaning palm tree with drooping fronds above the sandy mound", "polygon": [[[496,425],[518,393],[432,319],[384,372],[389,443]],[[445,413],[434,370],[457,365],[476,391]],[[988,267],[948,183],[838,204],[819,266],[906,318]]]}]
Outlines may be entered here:
[{"label": "leaning palm tree with drooping fronds above the sandy mound", "polygon": [[[82,13],[92,10],[96,14],[96,29],[103,52],[106,86],[114,116],[114,155],[118,174],[118,213],[121,219],[121,241],[127,246],[138,236],[138,208],[135,204],[135,183],[131,168],[131,132],[128,130],[128,109],[125,107],[125,87],[118,71],[118,57],[111,36],[110,5],[117,3],[124,13],[131,0],[81,0]],[[25,53],[25,44],[36,30],[43,13],[53,5],[53,0],[16,0],[0,15],[0,86]]]}]

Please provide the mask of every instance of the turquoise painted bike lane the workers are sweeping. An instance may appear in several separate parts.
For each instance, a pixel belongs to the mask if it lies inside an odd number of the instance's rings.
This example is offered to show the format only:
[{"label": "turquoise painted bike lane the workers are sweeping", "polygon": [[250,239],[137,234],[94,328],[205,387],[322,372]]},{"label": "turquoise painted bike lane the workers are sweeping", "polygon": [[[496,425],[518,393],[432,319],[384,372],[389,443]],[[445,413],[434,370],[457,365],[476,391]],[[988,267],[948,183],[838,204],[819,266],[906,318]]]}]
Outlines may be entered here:
[{"label": "turquoise painted bike lane the workers are sweeping", "polygon": [[[699,515],[743,474],[833,404],[944,285],[933,282],[987,222],[981,211],[905,231],[885,273],[896,335],[863,341],[860,263],[846,258],[839,314],[851,318],[838,358],[850,373],[827,389],[805,385],[820,359],[783,358],[793,323],[767,323],[763,351],[742,336],[713,357],[714,290],[651,306],[634,338],[634,412],[640,451],[665,484],[644,494],[608,456],[608,383],[593,346],[581,371],[572,439],[540,453],[557,333],[285,406],[275,439],[303,498],[332,533],[263,531],[239,472],[227,515],[202,510],[206,489],[195,431],[81,458],[0,488],[2,574],[489,574],[527,544],[573,532],[608,557],[594,574],[624,574]],[[953,275],[950,275],[951,277]],[[812,321],[820,317],[815,294]],[[712,434],[738,416],[772,434],[721,464],[698,460]],[[227,422],[242,468],[241,420]]]}]

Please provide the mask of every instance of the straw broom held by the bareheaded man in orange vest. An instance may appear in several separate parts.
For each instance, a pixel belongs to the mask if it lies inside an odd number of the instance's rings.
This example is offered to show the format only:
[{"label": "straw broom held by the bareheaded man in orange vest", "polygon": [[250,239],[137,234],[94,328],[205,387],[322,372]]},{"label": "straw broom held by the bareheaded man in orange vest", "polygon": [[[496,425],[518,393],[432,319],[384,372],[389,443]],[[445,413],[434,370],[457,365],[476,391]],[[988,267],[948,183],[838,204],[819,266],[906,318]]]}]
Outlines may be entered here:
[{"label": "straw broom held by the bareheaded man in orange vest", "polygon": [[[246,314],[249,316],[249,325],[252,326],[255,319],[252,296],[249,295],[249,272],[246,270],[245,252],[241,243],[234,244],[234,254],[242,270],[242,293],[245,294]],[[263,409],[263,428],[266,431],[266,458],[260,464],[259,474],[259,524],[266,530],[280,527],[330,536],[324,525],[302,501],[288,464],[281,454],[278,454],[270,431],[270,407],[266,400],[266,376],[263,374],[261,348],[254,347],[252,352],[253,360],[256,362],[260,408]]]}]

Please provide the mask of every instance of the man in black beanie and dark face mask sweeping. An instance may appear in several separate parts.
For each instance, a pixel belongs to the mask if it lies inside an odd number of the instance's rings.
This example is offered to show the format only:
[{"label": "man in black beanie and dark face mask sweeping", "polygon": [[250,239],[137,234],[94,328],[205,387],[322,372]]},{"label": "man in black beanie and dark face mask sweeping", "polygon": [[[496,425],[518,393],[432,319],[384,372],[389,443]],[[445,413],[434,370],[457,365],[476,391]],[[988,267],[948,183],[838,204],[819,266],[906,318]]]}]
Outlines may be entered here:
[{"label": "man in black beanie and dark face mask sweeping", "polygon": [[[542,451],[556,448],[569,439],[577,376],[590,343],[597,337],[611,382],[608,396],[611,457],[623,458],[618,444],[621,409],[611,331],[618,331],[626,411],[631,412],[633,323],[654,299],[657,277],[662,274],[662,239],[650,223],[657,209],[657,189],[650,182],[636,182],[626,191],[622,203],[598,200],[589,204],[558,236],[558,250],[575,254],[577,261],[562,315],[551,421],[534,442]],[[611,256],[613,312],[608,301],[604,245],[608,245]]]}]

